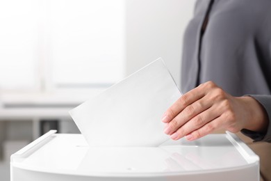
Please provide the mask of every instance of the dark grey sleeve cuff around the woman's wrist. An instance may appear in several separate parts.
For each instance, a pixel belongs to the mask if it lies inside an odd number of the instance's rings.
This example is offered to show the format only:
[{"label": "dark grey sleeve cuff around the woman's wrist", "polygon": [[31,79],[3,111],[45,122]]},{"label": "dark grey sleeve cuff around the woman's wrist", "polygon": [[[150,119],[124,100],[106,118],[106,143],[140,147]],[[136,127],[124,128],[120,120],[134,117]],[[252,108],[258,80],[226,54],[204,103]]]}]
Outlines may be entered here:
[{"label": "dark grey sleeve cuff around the woman's wrist", "polygon": [[252,132],[247,129],[243,129],[241,132],[245,134],[246,136],[249,136],[251,139],[254,139],[254,141],[267,141],[271,143],[271,95],[250,95],[254,97],[258,102],[260,102],[263,107],[265,108],[266,113],[268,114],[268,129],[266,134],[261,134],[258,132]]}]

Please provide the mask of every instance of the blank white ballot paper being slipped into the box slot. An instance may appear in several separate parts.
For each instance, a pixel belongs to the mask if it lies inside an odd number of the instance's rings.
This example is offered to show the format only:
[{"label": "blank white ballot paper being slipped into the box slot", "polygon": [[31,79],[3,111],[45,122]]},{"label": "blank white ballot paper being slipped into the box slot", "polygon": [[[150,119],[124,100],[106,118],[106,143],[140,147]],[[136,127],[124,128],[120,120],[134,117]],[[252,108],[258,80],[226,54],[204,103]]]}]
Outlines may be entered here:
[{"label": "blank white ballot paper being slipped into the box slot", "polygon": [[90,146],[158,146],[163,113],[181,96],[162,58],[69,111]]}]

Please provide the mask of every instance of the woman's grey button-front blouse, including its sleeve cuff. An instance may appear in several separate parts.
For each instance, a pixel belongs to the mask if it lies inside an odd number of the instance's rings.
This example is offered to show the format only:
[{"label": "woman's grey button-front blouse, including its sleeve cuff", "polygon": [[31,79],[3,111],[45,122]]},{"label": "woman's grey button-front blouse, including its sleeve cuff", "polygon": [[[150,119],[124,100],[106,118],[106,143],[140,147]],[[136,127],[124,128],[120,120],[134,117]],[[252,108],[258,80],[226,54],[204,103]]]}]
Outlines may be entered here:
[{"label": "woman's grey button-front blouse, including its sleeve cuff", "polygon": [[[271,120],[270,0],[199,0],[183,40],[183,93],[214,81],[231,95],[252,95]],[[242,132],[271,142],[271,123],[266,134]]]}]

